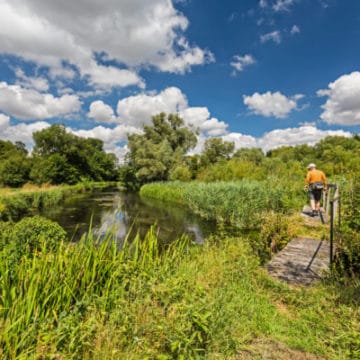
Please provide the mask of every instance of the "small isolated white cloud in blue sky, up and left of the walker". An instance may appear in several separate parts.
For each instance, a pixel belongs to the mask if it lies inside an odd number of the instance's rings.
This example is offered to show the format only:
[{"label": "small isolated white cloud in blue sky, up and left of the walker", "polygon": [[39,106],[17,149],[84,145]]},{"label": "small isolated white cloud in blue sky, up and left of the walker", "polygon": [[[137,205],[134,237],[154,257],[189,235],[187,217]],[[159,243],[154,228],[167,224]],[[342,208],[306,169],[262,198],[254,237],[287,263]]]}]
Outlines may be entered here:
[{"label": "small isolated white cloud in blue sky, up and left of the walker", "polygon": [[244,95],[243,99],[244,104],[257,115],[285,118],[292,110],[297,108],[296,101],[301,97],[302,95],[298,94],[288,98],[278,91],[274,93],[268,91],[264,94],[256,92],[251,96]]}]

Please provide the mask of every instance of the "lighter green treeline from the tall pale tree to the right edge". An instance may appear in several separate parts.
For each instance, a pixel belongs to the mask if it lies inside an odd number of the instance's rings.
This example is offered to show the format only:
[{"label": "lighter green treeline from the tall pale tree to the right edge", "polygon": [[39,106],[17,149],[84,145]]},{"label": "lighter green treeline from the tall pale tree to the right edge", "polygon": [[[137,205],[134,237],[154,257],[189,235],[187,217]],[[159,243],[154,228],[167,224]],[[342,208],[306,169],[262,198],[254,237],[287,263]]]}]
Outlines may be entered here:
[{"label": "lighter green treeline from the tall pale tree to the right edge", "polygon": [[143,134],[129,136],[122,182],[139,188],[154,181],[205,182],[269,177],[298,183],[309,163],[315,162],[328,177],[360,175],[360,136],[329,136],[316,145],[282,146],[264,153],[260,148],[240,148],[222,138],[208,138],[200,154],[188,155],[196,145],[196,132],[177,115],[152,118]]}]

